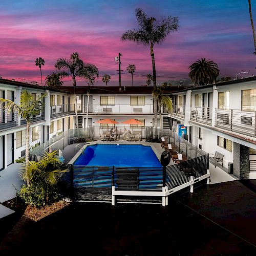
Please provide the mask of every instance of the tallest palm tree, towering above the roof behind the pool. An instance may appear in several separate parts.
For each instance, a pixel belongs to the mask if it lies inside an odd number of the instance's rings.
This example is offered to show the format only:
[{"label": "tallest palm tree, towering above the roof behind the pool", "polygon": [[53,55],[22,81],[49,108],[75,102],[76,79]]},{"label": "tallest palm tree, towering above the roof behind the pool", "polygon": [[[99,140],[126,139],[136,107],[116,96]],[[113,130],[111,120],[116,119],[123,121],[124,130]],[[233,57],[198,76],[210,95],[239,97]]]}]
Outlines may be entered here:
[{"label": "tallest palm tree, towering above the roof behind the pool", "polygon": [[[178,29],[178,17],[168,16],[163,18],[161,22],[157,22],[154,17],[147,17],[147,15],[139,8],[135,10],[137,22],[139,25],[138,30],[128,30],[122,36],[121,40],[134,41],[144,46],[150,46],[150,54],[152,58],[153,69],[153,83],[156,87],[156,64],[154,46],[164,41],[166,36]],[[156,99],[154,98],[154,101]],[[155,137],[157,139],[157,104],[154,104],[155,114]]]}]

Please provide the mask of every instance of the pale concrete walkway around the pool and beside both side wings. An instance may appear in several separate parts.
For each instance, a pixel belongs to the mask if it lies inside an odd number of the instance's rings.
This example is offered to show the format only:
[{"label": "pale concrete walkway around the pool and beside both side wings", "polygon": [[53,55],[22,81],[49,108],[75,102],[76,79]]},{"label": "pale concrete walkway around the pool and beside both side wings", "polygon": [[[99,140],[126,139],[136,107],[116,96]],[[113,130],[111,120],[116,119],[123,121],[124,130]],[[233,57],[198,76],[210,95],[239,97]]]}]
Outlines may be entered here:
[{"label": "pale concrete walkway around the pool and beside both side wings", "polygon": [[[92,142],[93,144],[95,143],[107,143],[107,144],[145,144],[145,141],[136,141],[136,142],[131,142],[131,141],[124,141],[124,140],[119,140],[119,141],[94,141]],[[86,143],[78,143],[81,146],[83,146]],[[77,153],[79,148],[77,147],[77,150],[75,150],[75,146],[77,144],[72,144],[66,146],[62,150],[63,157],[65,158],[65,163],[68,163],[72,157]],[[160,160],[160,156],[162,152],[164,151],[163,148],[160,146],[160,143],[146,143],[145,145],[151,145],[153,146],[153,150],[156,154],[156,156]],[[169,165],[175,164],[173,161],[170,161]],[[12,210],[9,208],[5,207],[1,203],[10,200],[16,196],[16,191],[20,189],[20,187],[25,184],[22,180],[20,180],[19,175],[18,175],[18,170],[20,168],[20,164],[14,163],[10,166],[8,166],[6,169],[2,170],[0,172],[0,219],[10,215],[13,213]],[[221,183],[221,182],[227,182],[227,181],[234,181],[236,178],[234,176],[231,176],[227,174],[224,170],[222,170],[220,167],[214,167],[211,163],[209,164],[210,168],[210,185],[211,184],[216,184],[216,183]],[[14,188],[15,186],[15,188]]]}]

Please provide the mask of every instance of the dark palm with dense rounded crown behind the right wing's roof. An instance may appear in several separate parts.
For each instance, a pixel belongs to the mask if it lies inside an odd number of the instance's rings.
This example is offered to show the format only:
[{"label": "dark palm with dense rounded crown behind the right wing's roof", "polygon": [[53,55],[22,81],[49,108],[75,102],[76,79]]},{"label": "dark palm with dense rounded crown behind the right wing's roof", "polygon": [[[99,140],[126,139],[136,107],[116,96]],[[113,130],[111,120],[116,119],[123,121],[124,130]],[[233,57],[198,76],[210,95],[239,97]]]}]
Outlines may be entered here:
[{"label": "dark palm with dense rounded crown behind the right wing's roof", "polygon": [[191,66],[189,66],[190,72],[189,78],[195,84],[195,86],[203,86],[204,84],[216,82],[217,77],[220,74],[218,65],[212,60],[206,60],[205,58],[198,59]]}]

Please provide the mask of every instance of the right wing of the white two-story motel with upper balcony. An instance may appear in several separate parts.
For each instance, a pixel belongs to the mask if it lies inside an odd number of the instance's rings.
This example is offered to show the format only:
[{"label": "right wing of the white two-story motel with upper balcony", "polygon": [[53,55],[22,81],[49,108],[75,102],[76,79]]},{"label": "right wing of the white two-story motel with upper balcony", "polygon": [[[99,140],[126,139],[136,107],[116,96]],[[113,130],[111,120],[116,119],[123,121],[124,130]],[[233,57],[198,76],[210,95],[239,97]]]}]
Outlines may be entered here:
[{"label": "right wing of the white two-story motel with upper balcony", "polygon": [[[186,127],[186,138],[202,150],[224,155],[240,179],[256,178],[256,77],[179,90],[174,110],[164,114]],[[230,164],[231,163],[231,164]]]}]

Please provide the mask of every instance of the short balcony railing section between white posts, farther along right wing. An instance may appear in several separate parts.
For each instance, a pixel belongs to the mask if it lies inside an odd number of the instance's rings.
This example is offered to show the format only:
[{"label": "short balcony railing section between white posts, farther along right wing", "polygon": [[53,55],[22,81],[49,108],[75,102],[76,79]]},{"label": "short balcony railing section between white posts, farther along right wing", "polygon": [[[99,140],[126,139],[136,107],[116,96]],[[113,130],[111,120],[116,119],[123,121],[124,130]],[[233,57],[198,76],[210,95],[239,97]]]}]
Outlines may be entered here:
[{"label": "short balcony railing section between white posts, farther along right wing", "polygon": [[212,109],[207,106],[195,106],[190,108],[190,120],[211,125]]}]

